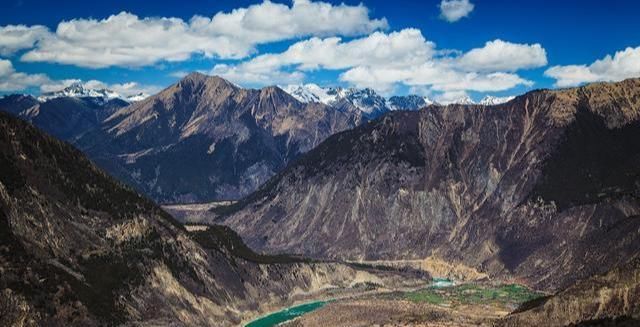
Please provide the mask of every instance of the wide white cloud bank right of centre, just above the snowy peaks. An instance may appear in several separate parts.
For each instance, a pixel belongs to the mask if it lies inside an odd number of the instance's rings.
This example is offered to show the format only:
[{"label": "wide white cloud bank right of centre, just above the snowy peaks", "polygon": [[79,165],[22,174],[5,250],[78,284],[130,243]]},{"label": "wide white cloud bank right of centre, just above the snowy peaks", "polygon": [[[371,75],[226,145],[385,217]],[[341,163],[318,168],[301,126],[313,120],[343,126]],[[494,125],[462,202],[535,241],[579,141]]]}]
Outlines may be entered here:
[{"label": "wide white cloud bank right of centre, just above the snowy peaks", "polygon": [[462,53],[438,50],[420,30],[409,28],[349,41],[313,37],[281,53],[259,55],[236,65],[216,65],[211,73],[239,84],[264,85],[295,82],[304,79],[306,72],[324,69],[341,71],[343,82],[382,93],[399,84],[428,87],[429,92],[492,92],[531,86],[531,81],[515,71],[546,62],[546,52],[539,44],[495,40]]}]

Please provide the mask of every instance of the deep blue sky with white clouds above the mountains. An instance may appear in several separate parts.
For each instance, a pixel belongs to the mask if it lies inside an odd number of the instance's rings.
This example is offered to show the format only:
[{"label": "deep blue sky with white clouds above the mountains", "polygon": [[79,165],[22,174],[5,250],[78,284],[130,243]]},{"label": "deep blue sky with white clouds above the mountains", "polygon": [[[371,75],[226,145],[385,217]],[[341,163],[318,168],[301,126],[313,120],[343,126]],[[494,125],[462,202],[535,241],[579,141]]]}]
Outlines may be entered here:
[{"label": "deep blue sky with white clouds above the mountains", "polygon": [[81,82],[155,93],[191,71],[244,87],[516,95],[640,76],[640,1],[36,1],[0,10],[0,94]]}]

